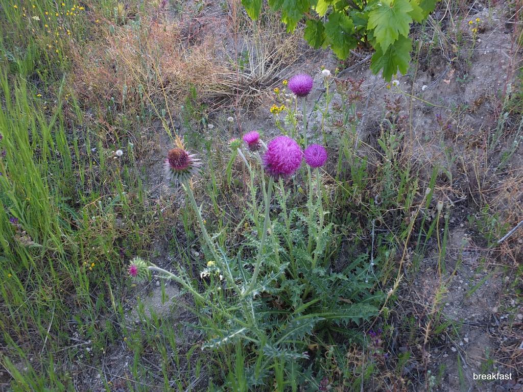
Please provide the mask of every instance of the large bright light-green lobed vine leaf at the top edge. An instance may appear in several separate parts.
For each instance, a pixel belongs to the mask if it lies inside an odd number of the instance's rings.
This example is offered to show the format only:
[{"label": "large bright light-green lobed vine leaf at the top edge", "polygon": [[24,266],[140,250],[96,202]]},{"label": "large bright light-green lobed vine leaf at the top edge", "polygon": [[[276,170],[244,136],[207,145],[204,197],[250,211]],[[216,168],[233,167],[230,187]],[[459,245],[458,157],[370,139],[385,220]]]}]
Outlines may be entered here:
[{"label": "large bright light-green lobed vine leaf at the top edge", "polygon": [[408,0],[381,0],[379,6],[369,12],[367,28],[374,30],[374,38],[383,51],[387,50],[400,35],[408,36],[412,23],[409,13],[413,9]]}]

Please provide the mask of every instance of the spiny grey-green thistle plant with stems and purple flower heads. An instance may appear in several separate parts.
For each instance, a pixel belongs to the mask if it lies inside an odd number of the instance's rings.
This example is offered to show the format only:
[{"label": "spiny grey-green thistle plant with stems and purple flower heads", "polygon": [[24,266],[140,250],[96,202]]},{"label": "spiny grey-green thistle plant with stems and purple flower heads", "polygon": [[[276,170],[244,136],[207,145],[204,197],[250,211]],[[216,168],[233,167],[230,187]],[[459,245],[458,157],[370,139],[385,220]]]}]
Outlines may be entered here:
[{"label": "spiny grey-green thistle plant with stems and purple flower heads", "polygon": [[[310,87],[306,84],[308,91]],[[241,347],[248,354],[242,366],[252,388],[272,377],[257,369],[272,368],[275,361],[284,367],[305,366],[301,361],[309,358],[311,344],[330,339],[333,328],[339,332],[338,327],[346,329],[351,322],[376,314],[380,299],[372,282],[362,278],[368,276],[365,256],[334,272],[333,224],[325,221],[320,173],[328,159],[325,147],[310,144],[303,151],[286,135],[265,143],[258,131],[246,133],[242,140],[243,144],[234,140],[230,146],[232,157],[240,157],[250,175],[251,205],[245,219],[246,226],[252,222],[255,230],[246,230],[244,244],[223,249],[208,233],[191,187],[200,160],[180,143],[167,154],[165,175],[173,186],[184,189],[196,215],[203,253],[208,255],[199,275],[202,284],[194,284],[181,269],[170,272],[140,258],[131,261],[128,272],[137,280],[152,274],[172,279],[193,295],[197,308],[203,309],[198,312],[201,323],[212,331],[202,350]],[[308,174],[302,181],[310,189],[306,204],[292,192],[300,185],[295,174],[303,160]]]}]

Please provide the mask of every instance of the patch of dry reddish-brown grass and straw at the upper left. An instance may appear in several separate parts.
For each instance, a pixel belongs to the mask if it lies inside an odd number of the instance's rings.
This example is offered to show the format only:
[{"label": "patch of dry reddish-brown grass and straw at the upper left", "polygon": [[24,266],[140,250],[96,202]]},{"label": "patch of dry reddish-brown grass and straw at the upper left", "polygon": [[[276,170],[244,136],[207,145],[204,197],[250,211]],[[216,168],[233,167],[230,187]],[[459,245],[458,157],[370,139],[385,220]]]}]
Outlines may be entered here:
[{"label": "patch of dry reddish-brown grass and straw at the upper left", "polygon": [[74,88],[90,107],[113,100],[133,108],[142,101],[154,111],[170,112],[191,90],[207,103],[253,102],[299,56],[299,33],[285,34],[279,24],[268,26],[251,22],[237,33],[237,27],[201,16],[145,20],[140,29],[113,26],[104,41],[76,51]]}]

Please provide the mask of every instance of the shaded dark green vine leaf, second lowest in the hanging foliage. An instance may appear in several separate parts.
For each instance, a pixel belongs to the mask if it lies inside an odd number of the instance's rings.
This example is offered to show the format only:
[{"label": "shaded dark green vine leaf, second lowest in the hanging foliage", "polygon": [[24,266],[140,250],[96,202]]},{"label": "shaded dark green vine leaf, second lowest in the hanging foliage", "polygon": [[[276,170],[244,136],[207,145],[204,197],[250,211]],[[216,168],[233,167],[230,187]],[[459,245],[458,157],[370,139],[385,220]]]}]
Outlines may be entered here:
[{"label": "shaded dark green vine leaf, second lowest in the hanging foliage", "polygon": [[334,12],[328,16],[325,33],[331,49],[340,59],[346,59],[350,49],[358,44],[353,21],[345,13]]}]

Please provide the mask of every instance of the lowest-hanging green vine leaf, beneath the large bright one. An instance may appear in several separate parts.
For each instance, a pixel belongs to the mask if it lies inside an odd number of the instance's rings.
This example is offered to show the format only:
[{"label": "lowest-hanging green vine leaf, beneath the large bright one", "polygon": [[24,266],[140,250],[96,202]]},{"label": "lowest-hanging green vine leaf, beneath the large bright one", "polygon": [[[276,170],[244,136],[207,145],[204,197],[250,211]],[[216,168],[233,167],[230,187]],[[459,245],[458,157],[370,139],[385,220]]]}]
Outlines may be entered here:
[{"label": "lowest-hanging green vine leaf, beneath the large bright one", "polygon": [[398,70],[402,74],[407,72],[412,51],[412,40],[410,38],[400,37],[399,40],[389,45],[385,52],[379,45],[375,49],[376,53],[372,56],[370,65],[370,69],[374,74],[383,70],[383,78],[390,81]]}]

